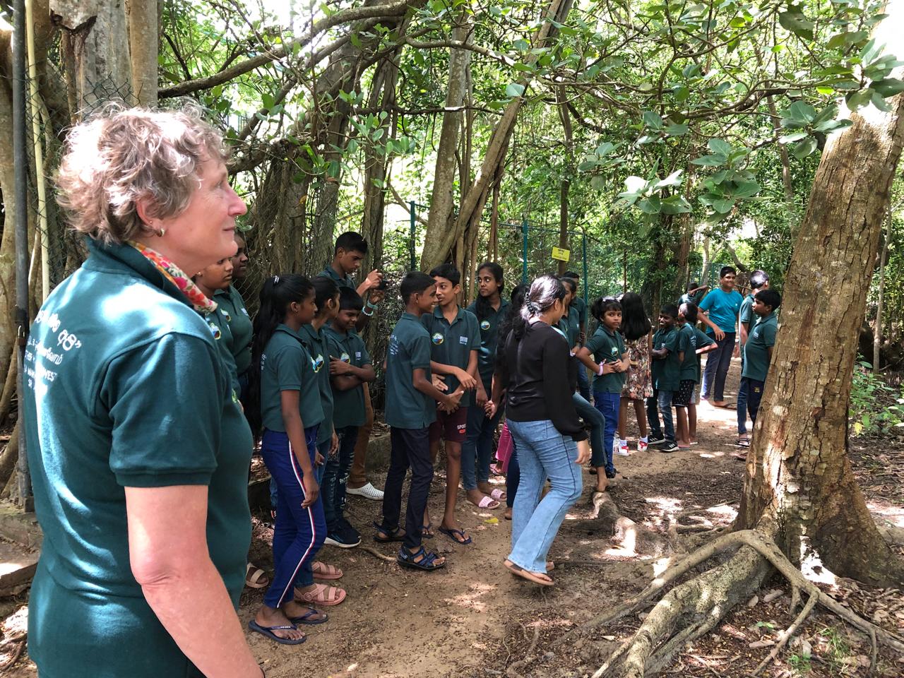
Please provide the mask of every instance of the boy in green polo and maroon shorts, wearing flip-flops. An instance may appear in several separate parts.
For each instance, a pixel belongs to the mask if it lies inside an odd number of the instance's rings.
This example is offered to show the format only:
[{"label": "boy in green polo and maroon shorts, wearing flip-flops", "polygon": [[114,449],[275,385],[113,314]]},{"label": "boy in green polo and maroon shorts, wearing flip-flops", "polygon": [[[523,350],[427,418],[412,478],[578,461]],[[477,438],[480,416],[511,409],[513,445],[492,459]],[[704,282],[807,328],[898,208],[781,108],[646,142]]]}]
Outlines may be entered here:
[{"label": "boy in green polo and maroon shorts, wearing flip-flops", "polygon": [[[430,271],[437,282],[437,306],[432,313],[420,316],[420,322],[430,335],[430,370],[441,375],[436,384],[440,390],[452,393],[465,389],[458,409],[447,412],[438,408],[437,419],[430,424],[430,460],[436,463],[439,440],[446,441],[446,511],[439,532],[459,544],[471,543],[471,538],[458,525],[455,505],[458,480],[461,477],[461,445],[466,438],[468,408],[474,406],[474,391],[483,389],[477,381],[477,353],[480,349],[480,330],[477,316],[458,306],[461,294],[461,273],[452,264],[442,264]],[[436,379],[436,378],[435,378]],[[442,385],[440,385],[442,384]],[[484,399],[485,399],[484,394]],[[430,528],[429,510],[424,512],[424,525]],[[429,532],[428,532],[429,533]]]}]

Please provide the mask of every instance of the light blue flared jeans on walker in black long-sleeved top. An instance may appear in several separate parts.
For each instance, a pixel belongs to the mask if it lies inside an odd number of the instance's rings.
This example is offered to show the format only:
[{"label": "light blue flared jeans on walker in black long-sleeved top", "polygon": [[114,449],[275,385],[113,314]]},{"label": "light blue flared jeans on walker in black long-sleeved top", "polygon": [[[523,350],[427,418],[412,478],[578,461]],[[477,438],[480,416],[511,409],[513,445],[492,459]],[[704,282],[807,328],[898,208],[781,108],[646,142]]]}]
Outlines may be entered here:
[{"label": "light blue flared jeans on walker in black long-sleeved top", "polygon": [[[521,484],[512,508],[512,552],[509,560],[532,572],[546,571],[546,554],[565,514],[580,497],[578,446],[560,434],[550,420],[508,422],[521,467]],[[551,489],[542,501],[546,479]]]}]

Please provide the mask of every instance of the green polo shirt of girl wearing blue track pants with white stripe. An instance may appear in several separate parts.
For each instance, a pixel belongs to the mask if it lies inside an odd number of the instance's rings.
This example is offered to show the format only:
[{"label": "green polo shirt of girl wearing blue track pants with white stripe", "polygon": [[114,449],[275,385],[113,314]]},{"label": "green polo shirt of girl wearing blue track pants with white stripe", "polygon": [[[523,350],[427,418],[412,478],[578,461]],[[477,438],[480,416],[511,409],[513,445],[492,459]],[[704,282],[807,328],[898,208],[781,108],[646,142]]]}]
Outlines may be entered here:
[{"label": "green polo shirt of girl wearing blue track pants with white stripe", "polygon": [[324,420],[314,365],[301,336],[278,325],[260,356],[260,419],[264,428],[286,432],[282,419],[282,391],[298,391],[298,411],[305,428]]}]

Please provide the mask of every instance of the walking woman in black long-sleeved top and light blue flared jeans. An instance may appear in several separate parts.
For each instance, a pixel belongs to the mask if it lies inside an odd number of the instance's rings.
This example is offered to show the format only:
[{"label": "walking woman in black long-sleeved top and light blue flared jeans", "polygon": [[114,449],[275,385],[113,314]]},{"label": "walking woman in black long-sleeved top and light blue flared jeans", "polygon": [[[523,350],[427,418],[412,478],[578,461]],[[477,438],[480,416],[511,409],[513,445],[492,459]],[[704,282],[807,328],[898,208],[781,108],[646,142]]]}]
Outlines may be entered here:
[{"label": "walking woman in black long-sleeved top and light blue flared jeans", "polygon": [[[555,329],[565,306],[557,278],[533,281],[521,322],[505,344],[499,377],[507,389],[506,416],[518,448],[521,484],[512,516],[512,552],[505,567],[524,579],[551,586],[546,554],[581,492],[581,466],[589,459],[571,393],[577,382],[568,341]],[[546,479],[551,491],[540,500]]]}]

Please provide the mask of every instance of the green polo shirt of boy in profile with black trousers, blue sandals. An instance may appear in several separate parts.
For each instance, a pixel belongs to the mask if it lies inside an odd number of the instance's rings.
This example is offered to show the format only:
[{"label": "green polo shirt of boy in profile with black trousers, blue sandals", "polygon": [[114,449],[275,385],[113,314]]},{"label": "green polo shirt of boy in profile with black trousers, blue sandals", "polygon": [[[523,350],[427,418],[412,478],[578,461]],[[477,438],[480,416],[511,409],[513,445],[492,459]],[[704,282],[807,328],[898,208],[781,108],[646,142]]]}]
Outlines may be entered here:
[{"label": "green polo shirt of boy in profile with black trousers, blue sandals", "polygon": [[437,403],[414,388],[414,371],[430,381],[430,335],[417,315],[403,313],[386,349],[386,423],[427,428],[437,419]]}]

